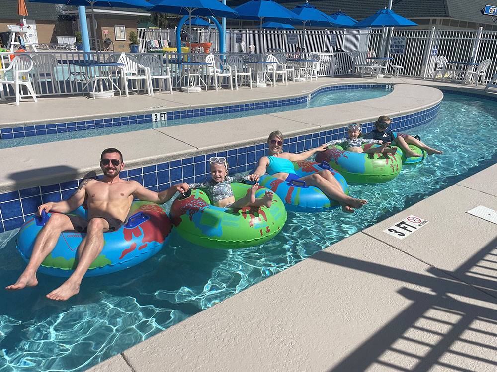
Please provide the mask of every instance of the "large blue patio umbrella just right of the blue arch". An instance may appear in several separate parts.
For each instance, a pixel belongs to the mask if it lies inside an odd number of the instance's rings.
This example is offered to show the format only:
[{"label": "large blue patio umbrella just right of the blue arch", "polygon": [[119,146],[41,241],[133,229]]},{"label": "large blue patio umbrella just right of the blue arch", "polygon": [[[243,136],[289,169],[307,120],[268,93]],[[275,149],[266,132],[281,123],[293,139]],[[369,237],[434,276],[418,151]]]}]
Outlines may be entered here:
[{"label": "large blue patio umbrella just right of the blue arch", "polygon": [[280,23],[299,23],[304,20],[274,0],[251,0],[234,9],[241,19],[259,20],[260,27],[264,21]]}]

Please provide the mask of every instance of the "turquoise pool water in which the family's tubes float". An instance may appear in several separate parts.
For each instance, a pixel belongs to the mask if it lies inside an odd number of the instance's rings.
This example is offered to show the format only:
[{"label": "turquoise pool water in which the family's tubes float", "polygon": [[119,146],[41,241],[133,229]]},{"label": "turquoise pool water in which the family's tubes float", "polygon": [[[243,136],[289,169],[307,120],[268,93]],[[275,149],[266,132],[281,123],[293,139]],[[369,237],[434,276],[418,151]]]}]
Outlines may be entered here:
[{"label": "turquoise pool water in which the family's tubes float", "polygon": [[[387,184],[351,185],[352,195],[369,200],[352,215],[289,212],[272,241],[242,250],[192,247],[173,238],[141,265],[83,280],[80,294],[66,303],[45,299],[61,279],[41,274],[38,287],[2,292],[0,372],[82,371],[489,167],[497,162],[496,121],[496,102],[445,95],[436,119],[406,131],[445,154],[406,166]],[[25,267],[15,233],[0,234],[1,286]]]}]

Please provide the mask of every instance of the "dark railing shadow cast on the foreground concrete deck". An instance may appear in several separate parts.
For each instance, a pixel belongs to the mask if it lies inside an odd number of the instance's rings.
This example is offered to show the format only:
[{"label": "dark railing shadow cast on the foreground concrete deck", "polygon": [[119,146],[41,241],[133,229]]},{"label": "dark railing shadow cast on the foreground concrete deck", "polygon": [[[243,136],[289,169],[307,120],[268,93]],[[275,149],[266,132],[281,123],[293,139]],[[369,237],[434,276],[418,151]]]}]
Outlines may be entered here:
[{"label": "dark railing shadow cast on the foreground concrete deck", "polygon": [[[497,238],[452,272],[430,267],[427,272],[433,276],[327,251],[310,258],[433,292],[401,288],[398,293],[412,304],[328,371],[497,370],[497,306],[485,305],[497,304],[497,281],[468,278],[480,262],[497,263]],[[475,348],[479,348],[478,354],[472,353]]]}]

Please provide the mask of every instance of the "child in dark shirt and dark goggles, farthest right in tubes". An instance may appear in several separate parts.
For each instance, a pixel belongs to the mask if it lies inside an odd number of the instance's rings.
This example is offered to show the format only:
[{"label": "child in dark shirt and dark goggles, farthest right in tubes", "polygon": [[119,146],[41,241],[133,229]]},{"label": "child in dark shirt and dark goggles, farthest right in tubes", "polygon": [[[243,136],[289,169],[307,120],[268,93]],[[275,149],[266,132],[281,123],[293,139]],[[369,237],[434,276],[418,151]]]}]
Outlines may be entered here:
[{"label": "child in dark shirt and dark goggles, farthest right in tubes", "polygon": [[390,119],[386,115],[381,115],[378,118],[378,120],[374,123],[375,129],[372,130],[370,133],[366,134],[365,138],[379,139],[384,142],[388,141],[395,143],[397,146],[401,148],[402,152],[406,155],[406,157],[422,156],[421,154],[417,154],[413,150],[411,150],[409,148],[410,144],[415,145],[420,149],[423,149],[424,151],[426,151],[428,155],[443,154],[443,151],[429,147],[428,145],[414,138],[411,135],[393,132],[391,129],[388,128],[391,123],[392,119]]}]

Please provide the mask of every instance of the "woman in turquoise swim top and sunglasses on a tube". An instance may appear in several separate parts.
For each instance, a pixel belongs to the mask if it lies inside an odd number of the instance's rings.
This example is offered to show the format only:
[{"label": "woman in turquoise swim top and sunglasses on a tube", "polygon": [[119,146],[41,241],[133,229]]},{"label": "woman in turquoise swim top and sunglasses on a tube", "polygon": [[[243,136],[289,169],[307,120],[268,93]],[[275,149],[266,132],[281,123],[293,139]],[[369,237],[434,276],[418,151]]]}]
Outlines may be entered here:
[{"label": "woman in turquoise swim top and sunglasses on a tube", "polygon": [[[264,173],[268,173],[273,177],[290,182],[298,179],[295,174],[293,164],[294,161],[306,160],[311,155],[318,151],[326,150],[326,145],[321,145],[312,150],[301,152],[300,154],[291,154],[283,152],[283,135],[279,131],[274,131],[269,134],[267,139],[268,156],[263,156],[259,159],[259,165],[249,179],[258,181],[259,177]],[[352,213],[354,208],[360,208],[367,203],[364,199],[355,199],[346,195],[338,181],[333,177],[329,170],[322,170],[312,175],[301,177],[307,185],[318,187],[323,193],[332,200],[336,200],[342,206],[342,210],[347,213]]]}]

